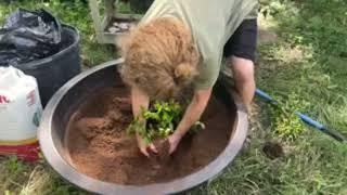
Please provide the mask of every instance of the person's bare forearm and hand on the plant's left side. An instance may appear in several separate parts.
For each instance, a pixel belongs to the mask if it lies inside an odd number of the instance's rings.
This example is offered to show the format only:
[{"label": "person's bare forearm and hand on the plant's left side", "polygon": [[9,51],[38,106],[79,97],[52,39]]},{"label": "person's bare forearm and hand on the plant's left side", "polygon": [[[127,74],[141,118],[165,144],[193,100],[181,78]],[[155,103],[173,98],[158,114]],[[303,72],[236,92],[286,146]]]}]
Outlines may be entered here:
[{"label": "person's bare forearm and hand on the plant's left side", "polygon": [[[141,118],[141,108],[144,108],[144,109],[149,108],[150,98],[137,87],[132,87],[131,88],[131,105],[132,105],[133,117],[139,117],[139,120],[143,120],[143,118]],[[141,153],[144,154],[145,156],[147,157],[150,156],[147,152],[149,146],[153,152],[156,152],[154,145],[153,144],[147,145],[138,133],[137,133],[137,140],[138,140],[138,146]]]}]

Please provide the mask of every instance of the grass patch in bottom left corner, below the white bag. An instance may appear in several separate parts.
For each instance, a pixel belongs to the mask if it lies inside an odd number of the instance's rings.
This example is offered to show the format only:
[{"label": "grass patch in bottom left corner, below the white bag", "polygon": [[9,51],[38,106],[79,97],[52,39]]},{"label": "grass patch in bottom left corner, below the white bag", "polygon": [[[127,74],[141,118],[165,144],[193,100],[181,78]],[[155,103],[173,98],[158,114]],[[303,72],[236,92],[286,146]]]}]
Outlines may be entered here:
[{"label": "grass patch in bottom left corner, below the white bag", "polygon": [[0,173],[1,194],[87,194],[63,181],[43,160],[28,164],[15,157],[0,158]]}]

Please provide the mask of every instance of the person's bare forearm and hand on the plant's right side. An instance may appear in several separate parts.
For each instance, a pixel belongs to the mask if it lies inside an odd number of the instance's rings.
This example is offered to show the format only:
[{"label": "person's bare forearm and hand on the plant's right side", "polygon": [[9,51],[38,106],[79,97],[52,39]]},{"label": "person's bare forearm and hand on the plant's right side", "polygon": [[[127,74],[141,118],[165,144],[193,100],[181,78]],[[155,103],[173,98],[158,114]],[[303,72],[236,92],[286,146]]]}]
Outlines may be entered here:
[{"label": "person's bare forearm and hand on the plant's right side", "polygon": [[198,90],[194,93],[192,102],[188,106],[182,120],[178,125],[175,133],[169,136],[170,154],[176,150],[181,138],[189,131],[189,129],[200,119],[204,113],[213,89]]}]

